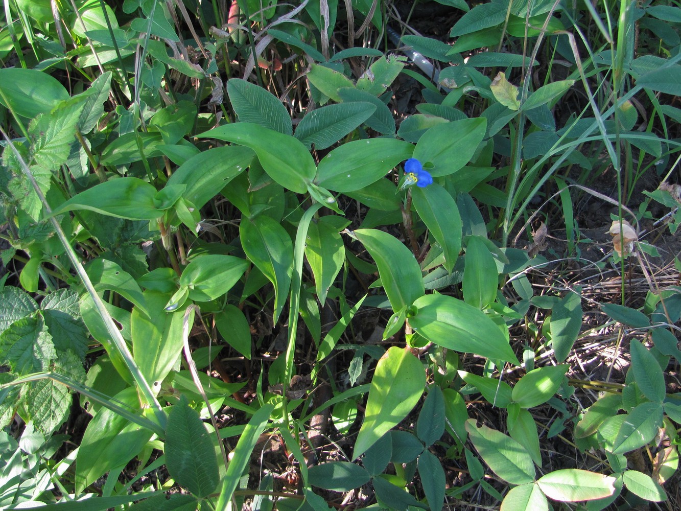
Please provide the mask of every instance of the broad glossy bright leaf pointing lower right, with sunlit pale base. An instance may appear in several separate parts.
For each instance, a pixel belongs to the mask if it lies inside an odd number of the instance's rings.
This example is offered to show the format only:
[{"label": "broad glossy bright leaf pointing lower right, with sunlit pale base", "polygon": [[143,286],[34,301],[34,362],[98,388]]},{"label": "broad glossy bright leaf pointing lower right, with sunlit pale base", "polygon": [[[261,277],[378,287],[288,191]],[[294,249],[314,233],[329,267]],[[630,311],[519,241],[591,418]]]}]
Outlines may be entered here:
[{"label": "broad glossy bright leaf pointing lower right, with sunlit pale base", "polygon": [[480,309],[444,294],[422,296],[413,305],[418,312],[409,324],[428,341],[520,365],[503,332]]}]

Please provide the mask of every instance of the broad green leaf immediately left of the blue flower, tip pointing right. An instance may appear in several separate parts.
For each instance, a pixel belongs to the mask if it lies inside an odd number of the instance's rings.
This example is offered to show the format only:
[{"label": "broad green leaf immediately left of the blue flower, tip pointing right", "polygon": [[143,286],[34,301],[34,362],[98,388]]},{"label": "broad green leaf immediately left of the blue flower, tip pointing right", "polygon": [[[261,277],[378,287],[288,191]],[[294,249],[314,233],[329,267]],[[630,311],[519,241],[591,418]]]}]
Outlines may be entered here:
[{"label": "broad green leaf immediately left of the blue flower, tip pointing right", "polygon": [[411,157],[413,146],[394,138],[353,140],[336,147],[319,161],[315,183],[331,191],[354,191],[381,179],[400,161]]}]

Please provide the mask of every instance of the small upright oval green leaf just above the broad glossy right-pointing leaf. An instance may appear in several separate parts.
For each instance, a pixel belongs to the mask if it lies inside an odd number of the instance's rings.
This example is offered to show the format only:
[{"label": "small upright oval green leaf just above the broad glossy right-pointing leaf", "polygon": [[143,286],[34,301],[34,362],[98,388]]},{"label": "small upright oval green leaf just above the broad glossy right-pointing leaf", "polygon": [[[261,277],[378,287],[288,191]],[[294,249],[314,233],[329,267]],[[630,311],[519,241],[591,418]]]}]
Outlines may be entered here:
[{"label": "small upright oval green leaf just above the broad glossy right-pointing leaf", "polygon": [[471,236],[466,246],[462,290],[464,300],[484,309],[496,300],[499,276],[492,253],[480,236]]}]

